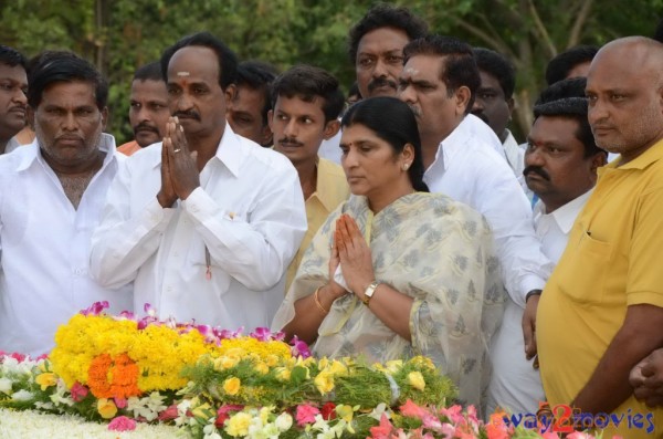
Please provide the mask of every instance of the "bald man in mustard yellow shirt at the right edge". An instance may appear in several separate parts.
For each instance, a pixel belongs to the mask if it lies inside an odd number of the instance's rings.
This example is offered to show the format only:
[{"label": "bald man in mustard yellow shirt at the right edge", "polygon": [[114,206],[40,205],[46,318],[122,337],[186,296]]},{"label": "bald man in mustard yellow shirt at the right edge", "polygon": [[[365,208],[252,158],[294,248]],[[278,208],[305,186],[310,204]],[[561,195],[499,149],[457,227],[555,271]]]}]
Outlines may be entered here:
[{"label": "bald man in mustard yellow shirt at the right edge", "polygon": [[635,399],[629,372],[663,346],[663,45],[604,45],[586,94],[597,145],[619,157],[599,169],[539,302],[544,389],[551,406],[608,414],[593,417],[604,437],[661,438],[663,409]]}]

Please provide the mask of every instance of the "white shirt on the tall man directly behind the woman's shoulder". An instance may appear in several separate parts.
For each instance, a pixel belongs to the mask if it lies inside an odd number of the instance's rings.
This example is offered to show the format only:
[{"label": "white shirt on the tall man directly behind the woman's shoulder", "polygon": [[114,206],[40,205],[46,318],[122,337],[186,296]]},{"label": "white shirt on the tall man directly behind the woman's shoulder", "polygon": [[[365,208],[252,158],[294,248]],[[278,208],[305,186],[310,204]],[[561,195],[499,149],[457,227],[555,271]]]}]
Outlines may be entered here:
[{"label": "white shirt on the tall man directly behind the woman's shoulder", "polygon": [[465,117],[442,140],[423,180],[432,192],[446,194],[486,218],[506,290],[524,307],[525,295],[544,288],[552,264],[541,253],[529,202],[514,173],[494,148],[473,134],[469,121]]}]

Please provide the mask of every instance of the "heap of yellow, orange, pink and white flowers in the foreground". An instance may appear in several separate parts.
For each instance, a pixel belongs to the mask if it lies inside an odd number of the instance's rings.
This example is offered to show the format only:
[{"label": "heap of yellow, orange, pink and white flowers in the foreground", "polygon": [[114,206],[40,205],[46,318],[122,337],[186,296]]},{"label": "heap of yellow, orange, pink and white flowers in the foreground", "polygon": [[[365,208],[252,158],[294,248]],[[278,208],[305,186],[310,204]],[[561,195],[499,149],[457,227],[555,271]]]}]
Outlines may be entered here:
[{"label": "heap of yellow, orange, pink and white flowers in the foreground", "polygon": [[[82,420],[95,420],[107,421],[108,432],[140,430],[143,437],[172,433],[146,430],[157,424],[204,439],[558,439],[515,428],[503,412],[483,422],[473,407],[449,407],[456,389],[425,357],[373,365],[316,359],[306,344],[290,346],[283,334],[264,328],[244,336],[159,321],[149,305],[144,318],[110,316],[106,307],[96,303],[72,317],[49,357],[0,352],[0,432],[45,419],[39,431],[51,437],[75,436],[85,429]],[[7,409],[59,416],[34,415],[28,422]]]}]

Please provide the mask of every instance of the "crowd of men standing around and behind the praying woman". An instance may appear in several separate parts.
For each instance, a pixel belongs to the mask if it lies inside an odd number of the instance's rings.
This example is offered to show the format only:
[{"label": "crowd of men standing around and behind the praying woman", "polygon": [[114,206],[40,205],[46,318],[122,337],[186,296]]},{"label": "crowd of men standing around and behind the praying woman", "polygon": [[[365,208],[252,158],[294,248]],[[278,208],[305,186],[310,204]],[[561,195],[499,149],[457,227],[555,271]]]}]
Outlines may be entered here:
[{"label": "crowd of men standing around and behind the praying woman", "polygon": [[[383,4],[348,41],[359,98],[406,102],[430,190],[492,228],[509,301],[486,412],[548,400],[663,419],[663,44],[631,36],[551,60],[520,145],[503,54]],[[269,326],[313,236],[349,197],[338,81],[185,36],[136,71],[135,138],[116,148],[108,87],[90,62],[44,52],[27,65],[0,46],[0,351],[49,352],[57,325],[96,301]]]}]

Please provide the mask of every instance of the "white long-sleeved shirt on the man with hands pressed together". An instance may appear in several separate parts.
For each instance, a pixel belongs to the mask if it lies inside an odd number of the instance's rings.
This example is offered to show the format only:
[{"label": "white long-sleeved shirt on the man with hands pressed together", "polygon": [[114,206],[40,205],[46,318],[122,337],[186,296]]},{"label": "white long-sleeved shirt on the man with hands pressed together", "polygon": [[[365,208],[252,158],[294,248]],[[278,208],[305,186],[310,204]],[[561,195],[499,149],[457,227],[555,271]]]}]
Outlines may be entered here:
[{"label": "white long-sleeved shirt on the man with hands pressed together", "polygon": [[137,312],[150,303],[181,322],[269,326],[306,231],[291,161],[227,124],[200,187],[166,209],[157,201],[160,165],[159,143],[120,168],[93,237],[93,275],[108,286],[135,281]]}]

